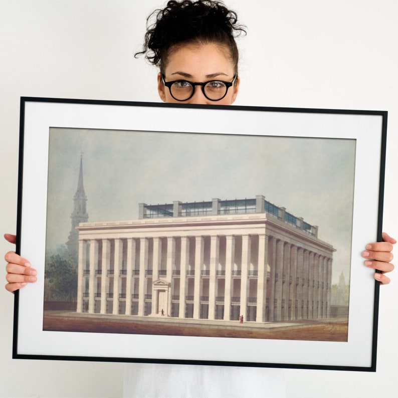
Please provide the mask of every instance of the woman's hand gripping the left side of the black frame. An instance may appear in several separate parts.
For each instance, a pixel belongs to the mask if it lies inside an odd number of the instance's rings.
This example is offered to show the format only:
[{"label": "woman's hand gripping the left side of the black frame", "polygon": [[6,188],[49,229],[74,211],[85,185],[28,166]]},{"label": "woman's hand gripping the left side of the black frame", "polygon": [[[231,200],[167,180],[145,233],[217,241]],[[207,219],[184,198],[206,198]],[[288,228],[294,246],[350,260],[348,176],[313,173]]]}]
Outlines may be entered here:
[{"label": "woman's hand gripping the left side of the black frame", "polygon": [[[16,243],[17,237],[15,235],[5,234],[6,241]],[[9,292],[15,292],[18,289],[26,286],[28,283],[37,281],[37,271],[31,267],[31,263],[19,256],[15,252],[8,252],[4,256],[6,262],[6,279],[8,284],[6,289]]]}]

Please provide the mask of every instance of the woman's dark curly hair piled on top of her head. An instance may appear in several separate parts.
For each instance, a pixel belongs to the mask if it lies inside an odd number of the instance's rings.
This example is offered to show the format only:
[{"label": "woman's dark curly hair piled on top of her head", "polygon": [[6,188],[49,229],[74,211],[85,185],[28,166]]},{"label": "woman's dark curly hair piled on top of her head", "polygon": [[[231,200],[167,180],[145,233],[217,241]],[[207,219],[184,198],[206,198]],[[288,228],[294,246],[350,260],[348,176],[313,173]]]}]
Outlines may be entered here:
[{"label": "woman's dark curly hair piled on top of her head", "polygon": [[145,42],[135,57],[145,54],[145,58],[163,73],[172,47],[218,43],[230,50],[235,73],[238,73],[239,52],[235,37],[246,34],[246,30],[237,22],[237,14],[221,2],[171,0],[164,9],[155,10],[148,17]]}]

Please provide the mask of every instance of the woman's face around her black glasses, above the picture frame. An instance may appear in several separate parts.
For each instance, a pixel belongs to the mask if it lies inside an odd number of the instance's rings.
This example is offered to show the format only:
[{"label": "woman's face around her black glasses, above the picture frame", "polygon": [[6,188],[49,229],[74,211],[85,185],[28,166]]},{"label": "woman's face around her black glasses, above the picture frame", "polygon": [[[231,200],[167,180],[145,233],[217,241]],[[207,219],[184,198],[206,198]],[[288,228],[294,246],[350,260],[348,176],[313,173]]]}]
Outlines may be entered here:
[{"label": "woman's face around her black glasses, above the picture frame", "polygon": [[[193,83],[209,80],[232,82],[235,76],[234,65],[228,57],[228,49],[215,43],[201,45],[186,45],[172,49],[168,63],[164,69],[164,80],[186,80]],[[160,73],[157,75],[157,90],[164,102],[183,104],[231,105],[238,95],[239,77],[231,86],[227,95],[220,101],[211,101],[203,94],[201,86],[195,86],[194,94],[186,101],[177,101],[171,95],[168,87],[163,84]]]}]

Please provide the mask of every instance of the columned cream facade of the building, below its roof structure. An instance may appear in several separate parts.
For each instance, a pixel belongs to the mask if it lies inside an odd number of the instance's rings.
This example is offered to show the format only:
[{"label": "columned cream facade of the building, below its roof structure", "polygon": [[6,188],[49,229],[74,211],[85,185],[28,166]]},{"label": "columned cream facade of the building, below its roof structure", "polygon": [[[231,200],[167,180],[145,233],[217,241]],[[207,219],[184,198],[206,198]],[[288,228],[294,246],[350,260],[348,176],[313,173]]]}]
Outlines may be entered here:
[{"label": "columned cream facade of the building, below its roof structure", "polygon": [[77,311],[256,322],[329,317],[334,249],[258,229],[192,232],[81,234]]}]

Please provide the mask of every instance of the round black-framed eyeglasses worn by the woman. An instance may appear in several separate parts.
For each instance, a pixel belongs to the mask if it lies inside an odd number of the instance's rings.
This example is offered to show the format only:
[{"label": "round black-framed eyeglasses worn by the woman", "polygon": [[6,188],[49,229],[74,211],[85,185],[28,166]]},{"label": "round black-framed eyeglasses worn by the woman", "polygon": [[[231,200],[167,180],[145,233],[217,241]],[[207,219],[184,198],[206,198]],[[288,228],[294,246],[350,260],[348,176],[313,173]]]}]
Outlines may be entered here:
[{"label": "round black-framed eyeglasses worn by the woman", "polygon": [[196,86],[201,86],[203,95],[210,101],[222,100],[228,92],[228,89],[235,83],[238,75],[234,76],[232,82],[224,80],[209,80],[202,83],[194,83],[189,80],[173,80],[166,82],[164,75],[161,75],[163,84],[168,87],[170,95],[177,101],[186,101],[191,98],[195,92]]}]

